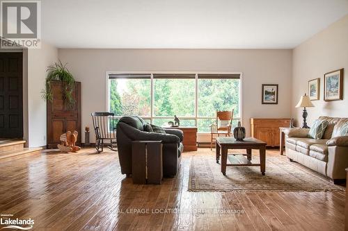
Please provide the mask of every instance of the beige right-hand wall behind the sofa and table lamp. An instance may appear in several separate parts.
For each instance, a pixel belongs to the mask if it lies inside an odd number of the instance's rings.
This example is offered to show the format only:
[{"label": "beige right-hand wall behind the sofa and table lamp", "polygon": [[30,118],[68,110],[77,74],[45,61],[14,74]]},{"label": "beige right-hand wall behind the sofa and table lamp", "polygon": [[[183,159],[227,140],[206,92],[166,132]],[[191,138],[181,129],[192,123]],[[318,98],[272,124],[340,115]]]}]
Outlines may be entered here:
[{"label": "beige right-hand wall behind the sofa and table lamp", "polygon": [[[299,98],[308,93],[308,80],[321,78],[320,100],[308,108],[309,125],[321,115],[348,117],[348,15],[317,33],[293,52],[292,116],[302,123],[302,109],[294,108]],[[345,68],[342,101],[324,101],[324,74]]]}]

